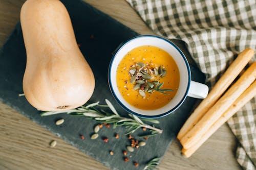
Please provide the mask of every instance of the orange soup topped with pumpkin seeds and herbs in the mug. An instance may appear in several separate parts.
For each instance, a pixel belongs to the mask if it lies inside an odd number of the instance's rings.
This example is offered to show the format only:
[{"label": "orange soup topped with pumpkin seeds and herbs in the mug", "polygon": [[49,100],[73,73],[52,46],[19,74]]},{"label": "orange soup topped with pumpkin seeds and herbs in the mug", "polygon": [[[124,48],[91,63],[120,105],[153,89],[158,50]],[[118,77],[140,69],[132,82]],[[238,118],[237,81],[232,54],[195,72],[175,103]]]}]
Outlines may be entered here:
[{"label": "orange soup topped with pumpkin seeds and herbs in the mug", "polygon": [[154,110],[174,98],[180,74],[172,56],[161,48],[145,45],[123,57],[116,81],[126,102],[139,109]]}]

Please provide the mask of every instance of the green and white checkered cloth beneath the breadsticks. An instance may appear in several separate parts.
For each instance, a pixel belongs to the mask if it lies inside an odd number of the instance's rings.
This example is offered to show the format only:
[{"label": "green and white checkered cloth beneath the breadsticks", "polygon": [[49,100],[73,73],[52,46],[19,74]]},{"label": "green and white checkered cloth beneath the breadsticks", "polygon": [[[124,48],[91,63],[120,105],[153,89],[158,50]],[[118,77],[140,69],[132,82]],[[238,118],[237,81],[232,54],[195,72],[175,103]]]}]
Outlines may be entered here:
[{"label": "green and white checkered cloth beneath the breadsticks", "polygon": [[[126,0],[157,34],[186,42],[209,86],[246,47],[256,50],[256,1]],[[253,56],[253,61],[256,57]],[[256,97],[228,120],[243,169],[256,165]]]}]

